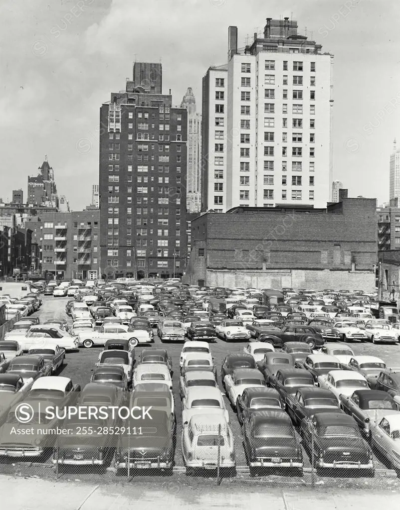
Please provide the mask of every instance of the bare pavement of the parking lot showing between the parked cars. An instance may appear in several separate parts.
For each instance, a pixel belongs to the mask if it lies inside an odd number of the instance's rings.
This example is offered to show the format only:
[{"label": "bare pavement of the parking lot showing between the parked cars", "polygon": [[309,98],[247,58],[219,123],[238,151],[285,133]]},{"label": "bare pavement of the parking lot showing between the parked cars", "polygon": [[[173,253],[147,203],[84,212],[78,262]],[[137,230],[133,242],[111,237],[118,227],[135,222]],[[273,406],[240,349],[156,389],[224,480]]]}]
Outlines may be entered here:
[{"label": "bare pavement of the parking lot showing between the parked cars", "polygon": [[[40,309],[40,311],[37,313],[37,315],[40,316],[41,321],[50,318],[50,317],[59,317],[64,318],[67,317],[65,314],[65,303],[67,299],[66,298],[53,298],[53,297],[43,297],[43,305]],[[68,322],[72,322],[68,318]],[[153,345],[163,345],[168,349],[172,356],[173,360],[173,368],[174,368],[174,374],[173,374],[173,392],[175,396],[175,407],[176,407],[176,416],[177,416],[177,445],[176,445],[176,451],[175,451],[175,466],[177,467],[183,467],[182,462],[182,454],[181,454],[181,402],[179,398],[179,355],[182,349],[182,344],[161,344],[159,338],[156,336],[156,330],[154,329],[155,334],[155,342]],[[221,386],[221,378],[220,378],[220,367],[222,364],[222,361],[225,357],[225,355],[228,352],[243,352],[243,347],[246,345],[246,342],[237,342],[237,343],[228,343],[226,344],[223,340],[218,339],[215,344],[211,344],[211,351],[213,353],[213,356],[216,360],[216,365],[218,369],[218,382],[220,385],[220,388],[222,390]],[[371,343],[352,343],[351,347],[354,349],[356,354],[370,354],[370,355],[377,355],[380,356],[388,366],[390,367],[400,367],[400,346],[398,344],[395,345],[373,345]],[[136,347],[136,358],[139,353],[139,351],[142,349],[142,347]],[[62,375],[65,375],[67,377],[70,377],[74,384],[79,383],[81,387],[83,388],[87,382],[90,379],[90,370],[95,365],[98,354],[102,350],[101,347],[98,348],[90,348],[85,349],[81,348],[79,352],[72,352],[67,353],[66,355],[66,364],[63,367]],[[242,431],[239,426],[236,414],[231,409],[231,406],[229,404],[228,399],[226,399],[226,405],[227,409],[229,410],[229,416],[230,416],[230,425],[232,428],[232,432],[235,438],[235,448],[236,448],[236,457],[237,457],[237,465],[238,466],[246,466],[246,459],[245,454],[243,450],[243,437],[242,437]],[[307,468],[310,468],[310,462],[308,459],[307,454],[303,452],[304,457],[304,467],[306,468],[305,471],[307,472]],[[378,469],[384,469],[386,466],[383,465],[377,458],[375,458],[375,467]],[[42,467],[35,466],[31,467],[32,470],[36,470],[36,472],[40,472],[42,476],[45,475],[45,472],[49,470],[53,470],[50,463],[47,465],[44,465]],[[13,465],[0,465],[0,471],[3,473],[13,473],[15,471],[15,467]],[[79,473],[79,478],[87,479],[87,480],[93,480],[97,479],[97,476],[99,473],[92,472],[87,473],[86,470],[82,470],[78,468],[77,466],[74,466],[74,473]],[[277,475],[279,473],[277,472]],[[339,474],[339,473],[338,473]],[[343,470],[341,472],[341,475],[343,476]],[[345,476],[347,473],[345,473]],[[67,476],[63,474],[62,476]],[[307,475],[306,475],[307,476]],[[115,478],[115,474],[113,472],[106,472],[102,473],[100,475],[99,479],[108,478],[109,480]],[[146,477],[145,477],[146,478]],[[293,481],[295,480],[301,481],[300,477],[293,477]]]}]

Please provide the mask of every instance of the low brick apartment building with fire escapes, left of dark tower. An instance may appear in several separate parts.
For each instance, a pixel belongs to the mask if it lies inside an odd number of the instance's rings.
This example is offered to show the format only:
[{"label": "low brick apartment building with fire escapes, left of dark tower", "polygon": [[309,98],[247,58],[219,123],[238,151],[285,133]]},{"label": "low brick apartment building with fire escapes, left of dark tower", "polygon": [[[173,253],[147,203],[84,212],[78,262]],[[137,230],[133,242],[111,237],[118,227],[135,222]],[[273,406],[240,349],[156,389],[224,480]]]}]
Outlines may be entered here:
[{"label": "low brick apartment building with fire escapes, left of dark tower", "polygon": [[41,221],[26,222],[33,232],[31,268],[59,279],[99,278],[99,223],[99,210],[48,212]]}]

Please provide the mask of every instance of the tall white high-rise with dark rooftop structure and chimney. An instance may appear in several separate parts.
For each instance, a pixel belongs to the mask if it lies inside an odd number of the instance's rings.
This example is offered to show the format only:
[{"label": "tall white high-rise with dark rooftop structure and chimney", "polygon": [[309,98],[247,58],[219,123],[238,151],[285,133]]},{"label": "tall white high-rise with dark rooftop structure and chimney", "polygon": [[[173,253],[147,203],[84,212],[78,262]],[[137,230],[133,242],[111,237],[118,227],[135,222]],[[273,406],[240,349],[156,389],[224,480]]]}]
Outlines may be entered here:
[{"label": "tall white high-rise with dark rooftop structure and chimney", "polygon": [[227,66],[203,78],[202,210],[326,207],[333,57],[289,18],[267,18],[245,48],[229,27],[228,41]]}]

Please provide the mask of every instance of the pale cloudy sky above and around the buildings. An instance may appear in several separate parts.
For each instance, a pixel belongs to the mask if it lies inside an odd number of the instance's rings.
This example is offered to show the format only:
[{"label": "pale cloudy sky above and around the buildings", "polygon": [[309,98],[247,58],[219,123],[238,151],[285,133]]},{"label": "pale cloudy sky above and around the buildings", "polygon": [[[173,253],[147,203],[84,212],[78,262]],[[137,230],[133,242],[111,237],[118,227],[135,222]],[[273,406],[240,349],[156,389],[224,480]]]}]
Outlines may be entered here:
[{"label": "pale cloudy sky above and around the buildings", "polygon": [[201,111],[201,79],[226,62],[228,26],[244,46],[279,16],[335,56],[334,179],[350,196],[388,200],[395,137],[400,147],[398,0],[2,0],[0,15],[3,200],[26,193],[48,154],[59,193],[82,209],[98,182],[99,108],[125,88],[132,61],[161,61],[163,91],[179,105],[191,86]]}]

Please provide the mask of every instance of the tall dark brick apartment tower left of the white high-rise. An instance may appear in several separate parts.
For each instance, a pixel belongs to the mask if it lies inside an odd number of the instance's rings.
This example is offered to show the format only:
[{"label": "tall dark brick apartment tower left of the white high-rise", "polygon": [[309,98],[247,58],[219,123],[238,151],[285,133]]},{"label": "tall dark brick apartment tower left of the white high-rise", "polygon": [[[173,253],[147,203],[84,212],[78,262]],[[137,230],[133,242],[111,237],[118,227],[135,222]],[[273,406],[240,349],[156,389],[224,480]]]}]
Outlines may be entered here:
[{"label": "tall dark brick apartment tower left of the white high-rise", "polygon": [[161,64],[135,62],[126,91],[100,108],[102,275],[185,270],[187,111],[161,83]]}]

